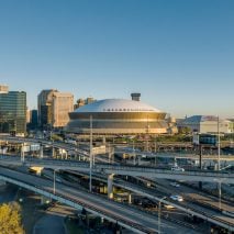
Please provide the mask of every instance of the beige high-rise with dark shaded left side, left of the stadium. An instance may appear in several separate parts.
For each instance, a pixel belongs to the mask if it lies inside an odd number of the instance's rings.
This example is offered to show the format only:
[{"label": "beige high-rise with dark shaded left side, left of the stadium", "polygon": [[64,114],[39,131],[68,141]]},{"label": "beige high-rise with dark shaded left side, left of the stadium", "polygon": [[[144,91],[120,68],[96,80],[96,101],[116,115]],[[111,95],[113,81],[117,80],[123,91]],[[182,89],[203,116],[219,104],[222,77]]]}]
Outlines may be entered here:
[{"label": "beige high-rise with dark shaded left side, left of the stadium", "polygon": [[38,94],[38,125],[42,129],[63,127],[74,111],[74,96],[55,89],[42,90]]}]

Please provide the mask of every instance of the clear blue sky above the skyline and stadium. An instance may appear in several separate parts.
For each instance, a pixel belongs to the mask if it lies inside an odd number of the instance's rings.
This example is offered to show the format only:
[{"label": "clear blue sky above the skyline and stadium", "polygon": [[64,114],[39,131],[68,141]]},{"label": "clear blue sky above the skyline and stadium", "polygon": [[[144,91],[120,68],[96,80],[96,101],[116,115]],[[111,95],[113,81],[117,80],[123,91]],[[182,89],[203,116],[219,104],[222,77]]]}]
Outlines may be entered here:
[{"label": "clear blue sky above the skyline and stadium", "polygon": [[234,1],[0,0],[0,83],[234,118]]}]

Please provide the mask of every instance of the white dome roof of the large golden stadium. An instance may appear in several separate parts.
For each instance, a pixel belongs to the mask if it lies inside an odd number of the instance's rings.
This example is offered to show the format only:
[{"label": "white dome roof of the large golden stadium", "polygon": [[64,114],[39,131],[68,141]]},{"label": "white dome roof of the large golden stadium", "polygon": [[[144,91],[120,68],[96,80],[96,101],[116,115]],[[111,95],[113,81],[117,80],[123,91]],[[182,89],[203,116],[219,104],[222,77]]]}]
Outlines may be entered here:
[{"label": "white dome roof of the large golden stadium", "polygon": [[92,102],[75,110],[77,113],[83,112],[161,112],[156,108],[141,101],[125,99],[104,99]]}]

